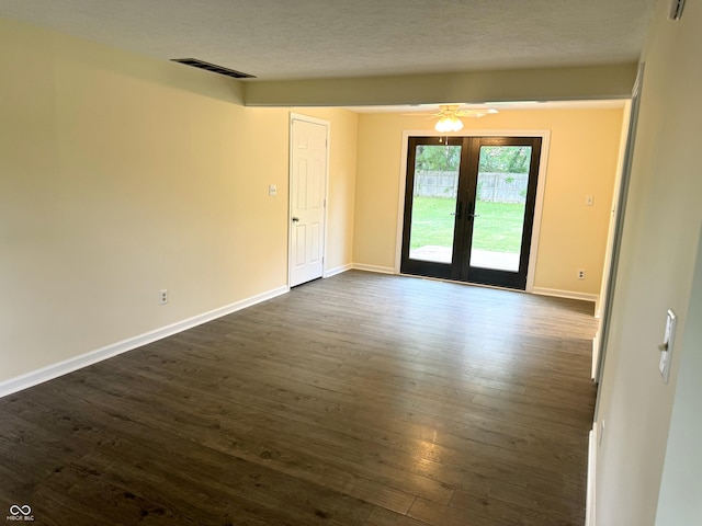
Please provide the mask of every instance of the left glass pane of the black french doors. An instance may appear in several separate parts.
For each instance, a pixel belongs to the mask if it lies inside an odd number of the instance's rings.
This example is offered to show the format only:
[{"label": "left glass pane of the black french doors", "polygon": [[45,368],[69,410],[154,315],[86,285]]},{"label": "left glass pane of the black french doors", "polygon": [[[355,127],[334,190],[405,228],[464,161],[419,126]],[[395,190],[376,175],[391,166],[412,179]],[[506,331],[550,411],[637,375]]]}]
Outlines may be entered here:
[{"label": "left glass pane of the black french doors", "polygon": [[409,258],[450,264],[461,146],[417,145],[415,153]]}]

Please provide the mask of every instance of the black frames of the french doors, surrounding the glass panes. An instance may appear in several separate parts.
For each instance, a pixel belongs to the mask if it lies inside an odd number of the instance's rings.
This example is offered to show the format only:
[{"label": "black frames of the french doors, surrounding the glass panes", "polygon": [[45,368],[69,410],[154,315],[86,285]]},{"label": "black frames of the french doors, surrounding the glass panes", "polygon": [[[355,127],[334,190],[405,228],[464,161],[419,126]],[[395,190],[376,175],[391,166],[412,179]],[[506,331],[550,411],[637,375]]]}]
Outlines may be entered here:
[{"label": "black frames of the french doors, surrounding the glass panes", "polygon": [[[532,247],[535,245],[532,236],[537,235],[540,220],[536,219],[536,213],[541,211],[543,202],[543,185],[541,181],[545,173],[544,163],[548,144],[547,132],[533,132],[528,134],[514,133],[490,133],[476,135],[454,135],[450,137],[441,137],[439,135],[411,134],[406,133],[404,136],[406,162],[403,176],[403,192],[400,194],[400,220],[398,228],[400,229],[399,249],[400,253],[397,258],[397,270],[401,274],[421,275],[427,277],[437,277],[452,281],[461,281],[474,284],[485,284],[506,288],[516,288],[529,290],[533,284],[533,276],[530,276],[530,264],[532,259],[530,255]],[[415,172],[415,155],[417,145],[450,145],[462,146],[461,168],[458,175],[458,188],[456,197],[454,239],[453,239],[453,264],[429,262],[409,259],[409,237],[410,229],[408,222],[411,220],[412,201],[408,198],[408,193],[414,188]],[[484,146],[531,146],[530,176],[529,186],[525,198],[525,228],[522,233],[520,266],[518,272],[500,271],[495,268],[484,268],[471,266],[471,245],[473,237],[473,221],[475,219],[475,207],[477,196],[468,198],[469,192],[475,194],[479,167],[477,159],[479,158],[480,148]],[[468,162],[469,161],[469,162]],[[473,190],[469,190],[473,188]],[[535,220],[536,219],[536,220]],[[535,252],[535,251],[534,251]],[[458,262],[458,263],[456,263]],[[462,262],[462,263],[460,263]],[[533,271],[533,270],[532,270]]]}]

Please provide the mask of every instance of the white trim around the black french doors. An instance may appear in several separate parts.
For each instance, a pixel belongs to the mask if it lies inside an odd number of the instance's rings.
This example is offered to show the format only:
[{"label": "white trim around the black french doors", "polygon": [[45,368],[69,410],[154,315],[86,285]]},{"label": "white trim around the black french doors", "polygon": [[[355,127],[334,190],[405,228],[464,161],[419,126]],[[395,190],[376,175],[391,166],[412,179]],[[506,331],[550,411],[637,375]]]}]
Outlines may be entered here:
[{"label": "white trim around the black french doors", "polygon": [[541,231],[541,216],[546,193],[546,174],[548,173],[548,151],[551,147],[550,129],[473,129],[453,134],[441,134],[434,129],[404,129],[400,148],[399,185],[397,197],[397,235],[395,239],[395,274],[400,274],[403,258],[403,228],[405,224],[405,190],[407,182],[407,146],[410,137],[540,137],[541,158],[539,159],[539,174],[536,180],[536,203],[534,204],[534,222],[532,225],[531,248],[529,252],[529,267],[526,270],[526,293],[534,289],[534,275],[539,255],[539,238]]}]

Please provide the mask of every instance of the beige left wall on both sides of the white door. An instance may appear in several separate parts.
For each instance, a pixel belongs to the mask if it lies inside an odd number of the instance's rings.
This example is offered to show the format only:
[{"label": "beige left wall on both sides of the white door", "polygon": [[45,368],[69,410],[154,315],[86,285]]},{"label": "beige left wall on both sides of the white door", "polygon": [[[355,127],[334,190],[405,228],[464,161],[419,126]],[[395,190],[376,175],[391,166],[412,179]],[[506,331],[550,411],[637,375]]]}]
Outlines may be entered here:
[{"label": "beige left wall on both sides of the white door", "polygon": [[[0,381],[286,286],[288,110],[245,108],[237,82],[181,65],[0,33]],[[315,114],[338,145],[342,266],[356,116]]]}]

